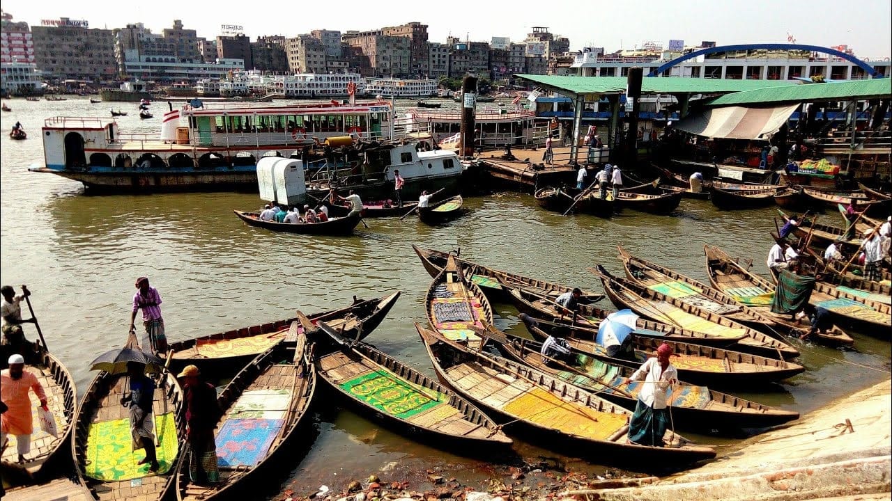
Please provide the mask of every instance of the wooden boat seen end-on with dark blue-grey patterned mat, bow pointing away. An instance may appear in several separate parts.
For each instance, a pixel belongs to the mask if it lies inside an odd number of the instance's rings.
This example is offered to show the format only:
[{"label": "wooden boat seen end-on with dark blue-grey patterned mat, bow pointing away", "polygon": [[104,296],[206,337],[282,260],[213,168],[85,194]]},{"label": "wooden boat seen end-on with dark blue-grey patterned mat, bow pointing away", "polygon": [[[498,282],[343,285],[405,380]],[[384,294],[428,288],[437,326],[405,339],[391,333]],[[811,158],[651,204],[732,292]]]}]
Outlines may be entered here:
[{"label": "wooden boat seen end-on with dark blue-grey patterned mat, bow pointing away", "polygon": [[450,340],[467,341],[474,347],[481,343],[475,329],[493,324],[490,301],[451,254],[427,289],[425,310],[428,322],[437,333]]}]

